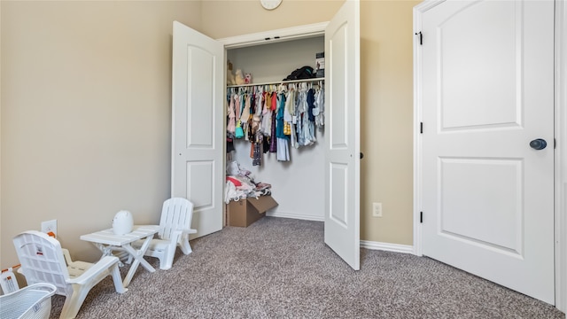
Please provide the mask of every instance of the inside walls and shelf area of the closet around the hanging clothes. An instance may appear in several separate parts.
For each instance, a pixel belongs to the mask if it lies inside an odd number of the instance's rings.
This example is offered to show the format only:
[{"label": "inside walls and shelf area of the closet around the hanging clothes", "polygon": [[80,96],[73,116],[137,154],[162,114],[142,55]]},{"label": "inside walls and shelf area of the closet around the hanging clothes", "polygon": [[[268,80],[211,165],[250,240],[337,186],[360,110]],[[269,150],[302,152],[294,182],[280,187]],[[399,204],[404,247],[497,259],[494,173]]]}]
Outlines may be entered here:
[{"label": "inside walls and shelf area of the closet around the hanging clothes", "polygon": [[[317,54],[324,52],[324,50],[323,35],[277,43],[267,41],[266,44],[227,49],[226,58],[229,65],[232,66],[232,74],[236,74],[237,70],[240,70],[243,76],[251,74],[249,83],[227,84],[225,104],[227,125],[231,125],[230,108],[238,105],[238,103],[235,105],[235,96],[243,97],[239,101],[245,103],[245,97],[257,98],[257,95],[262,94],[262,91],[282,92],[282,90],[294,88],[296,94],[299,94],[302,89],[305,89],[307,96],[307,90],[313,89],[313,94],[322,93],[322,96],[319,96],[322,98],[320,103],[324,103],[323,77],[314,76],[314,78],[291,82],[283,81],[291,72],[302,66],[311,66],[316,71],[316,58],[320,58],[320,55]],[[323,67],[324,65],[320,68]],[[227,77],[229,78],[229,75]],[[279,99],[273,100],[279,101]],[[231,105],[231,102],[233,105]],[[257,103],[254,104],[256,109],[260,106]],[[235,112],[237,114],[236,121],[239,120],[238,115],[242,114],[240,110],[242,109],[237,109]],[[307,113],[305,115],[307,116]],[[324,113],[321,115],[320,119],[323,122]],[[297,123],[301,121],[299,118],[295,120]],[[325,189],[323,167],[326,129],[324,125],[314,125],[312,129],[311,133],[314,138],[311,143],[294,146],[291,140],[286,142],[287,152],[289,152],[287,159],[289,160],[282,160],[285,156],[282,157],[284,151],[280,144],[280,147],[277,148],[277,151],[280,151],[279,159],[277,152],[262,150],[259,161],[258,154],[254,156],[254,146],[251,141],[253,135],[247,136],[246,131],[245,136],[232,138],[232,142],[228,140],[227,176],[230,175],[230,170],[232,170],[231,173],[234,173],[237,163],[239,167],[236,169],[249,171],[255,183],[271,185],[271,195],[276,199],[278,206],[268,210],[267,215],[323,221]],[[298,140],[296,140],[297,143]]]}]

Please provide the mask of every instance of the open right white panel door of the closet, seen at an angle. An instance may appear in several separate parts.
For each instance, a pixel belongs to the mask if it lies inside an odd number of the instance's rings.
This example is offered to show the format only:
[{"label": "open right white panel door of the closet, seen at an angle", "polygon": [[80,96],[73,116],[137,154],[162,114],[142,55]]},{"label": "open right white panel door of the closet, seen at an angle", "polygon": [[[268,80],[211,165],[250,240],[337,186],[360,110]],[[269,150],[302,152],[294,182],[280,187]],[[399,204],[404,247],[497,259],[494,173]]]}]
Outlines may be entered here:
[{"label": "open right white panel door of the closet, seen at an angle", "polygon": [[325,30],[325,244],[360,268],[360,4],[346,1]]}]

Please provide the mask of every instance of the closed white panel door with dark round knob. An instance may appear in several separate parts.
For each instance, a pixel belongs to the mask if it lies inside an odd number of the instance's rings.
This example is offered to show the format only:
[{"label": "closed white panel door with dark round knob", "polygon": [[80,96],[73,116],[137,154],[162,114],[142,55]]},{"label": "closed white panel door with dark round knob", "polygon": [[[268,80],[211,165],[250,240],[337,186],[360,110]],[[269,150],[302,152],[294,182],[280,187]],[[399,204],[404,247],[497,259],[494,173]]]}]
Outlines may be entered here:
[{"label": "closed white panel door with dark round knob", "polygon": [[421,18],[423,254],[554,304],[554,3]]}]

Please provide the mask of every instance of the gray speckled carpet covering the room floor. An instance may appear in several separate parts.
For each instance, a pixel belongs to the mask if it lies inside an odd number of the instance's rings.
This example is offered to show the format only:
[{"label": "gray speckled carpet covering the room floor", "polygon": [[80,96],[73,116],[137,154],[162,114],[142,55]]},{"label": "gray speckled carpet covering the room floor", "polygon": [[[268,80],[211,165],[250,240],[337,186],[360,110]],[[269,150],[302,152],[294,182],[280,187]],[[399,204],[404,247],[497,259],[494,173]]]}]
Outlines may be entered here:
[{"label": "gray speckled carpet covering the room floor", "polygon": [[[106,278],[77,318],[564,318],[555,307],[424,257],[361,249],[353,271],[323,244],[322,222],[265,217],[138,268],[128,292]],[[156,268],[158,261],[148,258]],[[124,273],[128,266],[122,268]],[[52,300],[58,318],[64,298]]]}]

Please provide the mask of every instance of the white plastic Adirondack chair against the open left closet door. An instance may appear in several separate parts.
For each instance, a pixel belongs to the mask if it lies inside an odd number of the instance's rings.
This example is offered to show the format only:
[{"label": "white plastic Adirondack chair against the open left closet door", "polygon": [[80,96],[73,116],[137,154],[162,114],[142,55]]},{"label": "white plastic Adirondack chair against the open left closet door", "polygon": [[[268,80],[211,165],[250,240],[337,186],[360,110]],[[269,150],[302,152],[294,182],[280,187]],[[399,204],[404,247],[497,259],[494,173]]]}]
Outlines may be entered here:
[{"label": "white plastic Adirondack chair against the open left closet door", "polygon": [[[189,244],[189,234],[197,232],[190,228],[192,218],[193,203],[188,199],[167,199],[161,209],[158,237],[151,239],[150,246],[144,255],[158,258],[159,268],[167,270],[173,265],[177,246],[184,254],[190,254],[192,250]],[[138,240],[132,246],[139,249],[143,243]]]}]

